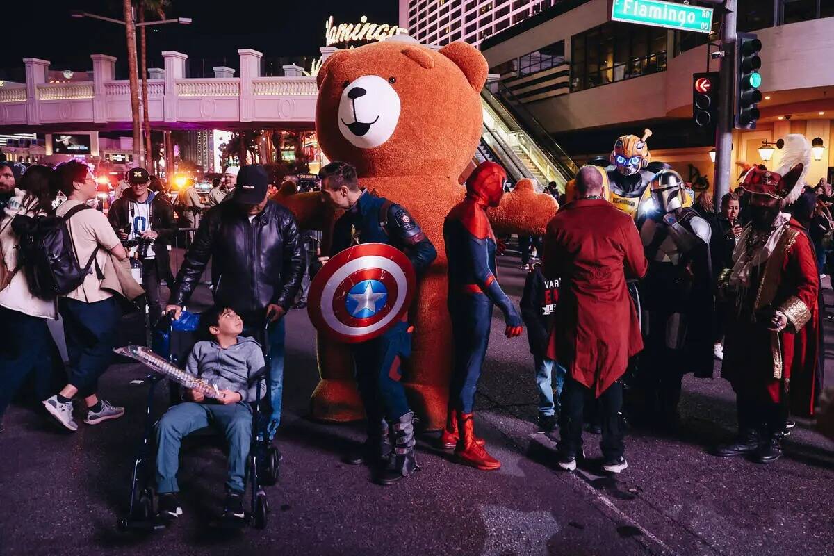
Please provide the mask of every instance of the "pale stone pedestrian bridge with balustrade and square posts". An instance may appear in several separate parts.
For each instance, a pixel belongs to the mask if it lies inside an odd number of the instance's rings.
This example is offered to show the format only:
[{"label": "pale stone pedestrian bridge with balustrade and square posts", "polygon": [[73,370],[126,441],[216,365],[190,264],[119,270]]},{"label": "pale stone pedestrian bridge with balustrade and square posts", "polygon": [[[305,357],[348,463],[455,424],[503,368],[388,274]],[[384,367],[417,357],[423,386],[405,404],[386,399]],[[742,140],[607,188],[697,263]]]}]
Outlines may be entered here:
[{"label": "pale stone pedestrian bridge with balustrade and square posts", "polygon": [[[326,58],[335,48],[322,48]],[[262,53],[238,51],[240,75],[214,68],[214,78],[185,78],[183,53],[163,52],[164,68],[150,68],[148,114],[154,129],[313,129],[317,87],[298,66],[284,77],[260,76]],[[47,83],[49,62],[25,58],[26,83],[0,87],[0,133],[131,129],[130,83],[116,80],[116,58],[93,54],[93,81]],[[141,98],[141,83],[139,96]]]}]

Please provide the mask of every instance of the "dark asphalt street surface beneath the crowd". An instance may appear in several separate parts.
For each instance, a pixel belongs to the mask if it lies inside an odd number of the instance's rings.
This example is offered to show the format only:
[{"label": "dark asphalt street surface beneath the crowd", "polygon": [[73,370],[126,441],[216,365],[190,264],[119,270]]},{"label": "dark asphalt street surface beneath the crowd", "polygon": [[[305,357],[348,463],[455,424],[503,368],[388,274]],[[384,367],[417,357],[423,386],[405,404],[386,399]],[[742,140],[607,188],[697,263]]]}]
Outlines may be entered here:
[{"label": "dark asphalt street surface beneath the crowd", "polygon": [[[518,258],[500,258],[500,281],[520,298]],[[828,281],[826,280],[826,286]],[[828,303],[834,303],[830,286]],[[205,302],[208,292],[200,294]],[[366,468],[340,463],[362,438],[359,423],[306,417],[318,374],[306,311],[287,318],[279,484],[268,488],[268,527],[228,531],[210,521],[223,502],[225,460],[213,443],[183,448],[184,515],[171,528],[120,533],[131,454],[142,433],[147,384],[138,364],[116,364],[100,392],[127,414],[68,433],[43,410],[9,409],[0,434],[0,554],[831,554],[834,443],[800,420],[785,457],[768,466],[722,459],[709,448],[735,432],[734,397],[721,378],[685,379],[676,438],[632,430],[629,468],[602,476],[599,437],[586,433],[590,462],[555,466],[555,443],[535,425],[532,358],[524,336],[508,340],[496,314],[477,399],[479,433],[503,467],[478,471],[418,443],[421,469],[392,487]],[[126,323],[125,328],[135,323]],[[135,335],[135,334],[134,334]],[[139,334],[141,336],[141,334]],[[826,356],[831,358],[831,329]],[[826,361],[827,383],[834,380]],[[717,377],[717,372],[716,372]],[[154,411],[161,413],[165,393]],[[77,413],[77,418],[82,418]]]}]

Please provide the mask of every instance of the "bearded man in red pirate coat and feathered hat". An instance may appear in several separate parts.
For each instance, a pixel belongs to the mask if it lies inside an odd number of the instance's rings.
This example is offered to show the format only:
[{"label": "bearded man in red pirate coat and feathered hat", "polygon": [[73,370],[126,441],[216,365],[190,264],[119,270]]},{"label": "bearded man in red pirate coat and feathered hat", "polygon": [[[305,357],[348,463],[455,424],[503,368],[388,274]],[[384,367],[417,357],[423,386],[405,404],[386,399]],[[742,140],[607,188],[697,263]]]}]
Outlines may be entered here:
[{"label": "bearded man in red pirate coat and feathered hat", "polygon": [[759,463],[776,461],[788,412],[813,413],[819,347],[816,256],[805,228],[781,212],[801,172],[802,164],[784,176],[752,168],[742,183],[751,193],[751,223],[720,284],[721,292],[736,301],[721,375],[736,392],[739,436],[717,448],[725,458],[749,454]]}]

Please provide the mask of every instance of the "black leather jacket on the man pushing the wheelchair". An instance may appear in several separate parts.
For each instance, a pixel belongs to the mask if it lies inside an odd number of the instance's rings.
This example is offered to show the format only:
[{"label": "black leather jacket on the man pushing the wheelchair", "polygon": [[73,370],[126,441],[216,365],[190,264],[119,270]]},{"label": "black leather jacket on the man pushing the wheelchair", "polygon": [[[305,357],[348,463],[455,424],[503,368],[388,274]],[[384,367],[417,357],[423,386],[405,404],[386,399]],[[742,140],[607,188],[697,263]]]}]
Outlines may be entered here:
[{"label": "black leather jacket on the man pushing the wheelchair", "polygon": [[236,203],[210,208],[185,253],[169,303],[188,301],[209,258],[214,303],[233,308],[245,324],[263,323],[269,303],[288,310],[304,274],[295,217],[273,201],[251,223]]}]

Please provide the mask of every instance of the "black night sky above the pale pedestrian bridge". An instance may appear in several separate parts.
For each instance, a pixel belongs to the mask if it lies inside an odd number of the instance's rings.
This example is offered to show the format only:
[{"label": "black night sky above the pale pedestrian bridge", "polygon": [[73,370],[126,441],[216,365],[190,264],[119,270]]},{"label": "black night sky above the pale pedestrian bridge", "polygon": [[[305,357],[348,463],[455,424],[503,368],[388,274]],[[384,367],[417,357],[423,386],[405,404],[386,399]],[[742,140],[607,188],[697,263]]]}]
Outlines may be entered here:
[{"label": "black night sky above the pale pedestrian bridge", "polygon": [[[254,48],[264,58],[319,55],[324,46],[324,21],[356,23],[367,15],[378,23],[396,24],[396,0],[172,0],[166,17],[190,17],[190,26],[169,24],[148,33],[149,67],[161,67],[163,50],[189,58],[228,57],[236,67],[238,48]],[[53,69],[92,69],[90,54],[126,56],[123,27],[70,17],[81,9],[122,17],[119,0],[8,0],[0,11],[0,68],[23,68],[23,58],[47,59]],[[210,63],[207,63],[210,65]],[[10,78],[10,77],[7,77]]]}]

